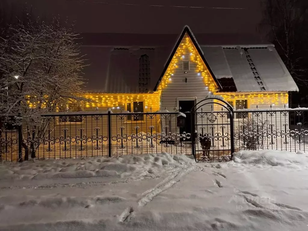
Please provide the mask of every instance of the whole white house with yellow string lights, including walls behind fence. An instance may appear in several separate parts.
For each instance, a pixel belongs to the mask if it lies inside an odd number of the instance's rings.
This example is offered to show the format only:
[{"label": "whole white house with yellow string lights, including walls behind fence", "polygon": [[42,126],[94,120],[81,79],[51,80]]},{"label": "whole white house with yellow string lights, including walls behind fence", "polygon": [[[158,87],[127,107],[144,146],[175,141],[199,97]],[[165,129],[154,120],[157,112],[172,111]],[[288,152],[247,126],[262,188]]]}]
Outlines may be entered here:
[{"label": "whole white house with yellow string lights, including walls behind fence", "polygon": [[[108,155],[108,148],[112,149],[112,155],[191,154],[192,146],[183,142],[191,139],[182,135],[192,132],[192,123],[198,135],[203,136],[205,132],[212,140],[211,155],[228,156],[231,133],[226,131],[230,131],[231,123],[228,115],[218,116],[224,113],[224,108],[211,99],[199,108],[203,112],[192,118],[190,111],[196,103],[212,95],[222,97],[235,110],[257,106],[259,109],[283,108],[288,107],[288,93],[298,91],[274,45],[262,43],[255,37],[195,36],[185,26],[177,39],[160,34],[84,34],[82,43],[86,64],[91,64],[83,71],[88,79],[85,97],[91,101],[84,102],[85,112],[70,112],[69,116],[63,112],[48,118],[52,129],[47,130],[46,140],[40,140],[39,158]],[[69,105],[66,107],[70,109]],[[108,108],[118,113],[112,116],[102,113]],[[150,114],[156,111],[183,112],[185,123],[178,126],[177,113]],[[202,115],[212,111],[217,113],[215,120]],[[234,133],[240,130],[239,136],[246,136],[247,131],[239,129],[239,115],[234,115],[234,126],[238,126]],[[270,145],[275,143],[271,148],[285,150],[287,147],[282,146],[291,144],[291,136],[294,136],[286,134],[288,116],[275,117],[271,124],[274,124],[271,130],[275,131],[270,131],[268,136],[261,132],[261,139],[267,139]],[[280,134],[285,132],[277,137],[279,129]],[[161,142],[167,140],[175,145]],[[242,143],[241,138],[237,143]],[[197,147],[200,151],[200,142]]]}]

